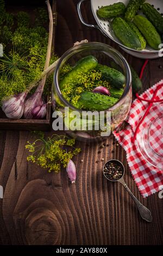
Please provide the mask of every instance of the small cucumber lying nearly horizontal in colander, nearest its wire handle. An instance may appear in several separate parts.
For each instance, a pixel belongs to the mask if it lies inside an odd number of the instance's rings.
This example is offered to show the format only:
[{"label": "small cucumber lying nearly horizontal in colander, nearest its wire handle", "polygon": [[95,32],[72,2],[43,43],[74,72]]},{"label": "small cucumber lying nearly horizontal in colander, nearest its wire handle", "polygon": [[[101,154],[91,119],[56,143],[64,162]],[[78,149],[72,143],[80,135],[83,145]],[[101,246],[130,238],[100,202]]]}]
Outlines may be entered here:
[{"label": "small cucumber lying nearly horizontal in colander, nearest its wire handle", "polygon": [[124,5],[124,3],[119,2],[101,7],[97,10],[97,15],[102,19],[111,19],[121,16],[122,14],[124,14],[125,10],[126,6]]}]

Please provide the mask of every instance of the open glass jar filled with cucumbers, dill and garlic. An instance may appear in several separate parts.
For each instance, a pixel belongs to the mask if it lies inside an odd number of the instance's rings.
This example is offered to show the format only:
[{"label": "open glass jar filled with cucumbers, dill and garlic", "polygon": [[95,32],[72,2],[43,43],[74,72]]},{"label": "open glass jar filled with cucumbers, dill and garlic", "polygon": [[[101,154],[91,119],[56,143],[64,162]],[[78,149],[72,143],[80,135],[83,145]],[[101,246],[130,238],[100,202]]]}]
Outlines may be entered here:
[{"label": "open glass jar filled with cucumbers, dill and garlic", "polygon": [[100,42],[74,46],[64,53],[55,69],[52,99],[62,113],[67,133],[90,141],[108,137],[130,109],[129,65],[120,52]]}]

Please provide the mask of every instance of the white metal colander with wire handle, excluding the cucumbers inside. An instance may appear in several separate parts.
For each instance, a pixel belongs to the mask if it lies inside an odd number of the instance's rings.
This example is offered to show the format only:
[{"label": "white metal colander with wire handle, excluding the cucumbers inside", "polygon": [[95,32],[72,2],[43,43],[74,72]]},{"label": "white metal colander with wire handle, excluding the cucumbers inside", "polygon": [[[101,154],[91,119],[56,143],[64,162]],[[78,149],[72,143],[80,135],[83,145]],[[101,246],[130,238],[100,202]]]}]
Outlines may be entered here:
[{"label": "white metal colander with wire handle, excluding the cucumbers inside", "polygon": [[[81,13],[81,10],[80,10],[80,7],[81,7],[81,4],[84,2],[84,1],[90,1],[91,2],[91,8],[92,8],[92,13],[95,17],[95,20],[97,22],[97,25],[90,25],[90,24],[87,24],[84,20],[83,20],[83,17],[82,17],[82,13]],[[160,51],[155,51],[153,50],[151,47],[147,46],[145,50],[142,50],[142,51],[137,51],[137,50],[134,50],[134,49],[131,49],[131,48],[128,48],[126,46],[124,46],[118,39],[117,37],[115,36],[114,32],[112,31],[111,29],[111,26],[110,26],[110,21],[108,20],[105,20],[105,19],[99,19],[99,17],[97,16],[97,10],[99,8],[101,8],[102,6],[105,6],[105,5],[110,5],[110,4],[114,4],[114,3],[117,3],[117,2],[123,2],[124,4],[128,4],[129,0],[121,0],[121,1],[114,1],[114,0],[81,0],[79,3],[78,3],[78,14],[79,14],[79,18],[80,18],[80,21],[87,27],[91,27],[91,28],[97,28],[99,29],[105,36],[108,36],[110,39],[112,39],[113,41],[115,41],[118,45],[121,46],[121,48],[123,48],[124,51],[128,52],[129,54],[135,56],[135,57],[138,57],[138,58],[143,58],[143,59],[154,59],[154,58],[158,58],[158,57],[161,57],[159,56],[159,52]],[[146,1],[150,4],[152,4],[154,6],[154,8],[156,8],[160,13],[161,15],[163,16],[163,1],[162,0],[148,0]],[[142,11],[139,10],[138,11],[138,14],[142,14]]]}]

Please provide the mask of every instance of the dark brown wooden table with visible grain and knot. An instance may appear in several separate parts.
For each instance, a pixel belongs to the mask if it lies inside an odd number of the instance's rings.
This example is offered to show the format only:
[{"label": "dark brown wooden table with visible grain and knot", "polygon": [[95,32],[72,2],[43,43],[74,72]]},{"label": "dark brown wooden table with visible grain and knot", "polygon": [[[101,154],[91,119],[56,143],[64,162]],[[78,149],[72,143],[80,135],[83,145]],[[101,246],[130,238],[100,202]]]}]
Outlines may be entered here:
[{"label": "dark brown wooden table with visible grain and knot", "polygon": [[[95,29],[84,27],[77,14],[78,0],[58,0],[55,52],[59,56],[73,42],[87,39],[117,45]],[[90,5],[83,16],[95,22]],[[140,72],[143,60],[120,50]],[[161,69],[162,65],[162,69]],[[143,76],[144,89],[163,77],[162,58],[150,60]],[[0,132],[0,244],[3,245],[161,245],[163,240],[162,200],[158,193],[143,199],[128,168],[126,153],[111,136],[109,147],[77,142],[82,153],[74,158],[76,185],[68,182],[66,171],[49,174],[27,162],[24,145],[33,140],[27,131]],[[99,152],[100,151],[100,152]],[[102,175],[104,161],[116,158],[124,163],[125,180],[135,196],[152,211],[153,222],[146,223],[130,196],[119,184]],[[81,161],[83,159],[83,162]]]}]

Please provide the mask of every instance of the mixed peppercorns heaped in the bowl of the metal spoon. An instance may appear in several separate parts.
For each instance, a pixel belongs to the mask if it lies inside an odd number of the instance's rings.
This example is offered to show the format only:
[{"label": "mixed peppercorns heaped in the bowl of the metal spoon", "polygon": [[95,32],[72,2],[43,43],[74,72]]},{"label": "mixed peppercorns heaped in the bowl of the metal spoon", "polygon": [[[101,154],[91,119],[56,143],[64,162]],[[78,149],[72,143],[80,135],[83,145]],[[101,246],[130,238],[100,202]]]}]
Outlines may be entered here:
[{"label": "mixed peppercorns heaped in the bowl of the metal spoon", "polygon": [[107,162],[104,166],[104,175],[109,180],[119,180],[123,176],[123,169],[114,161]]}]

